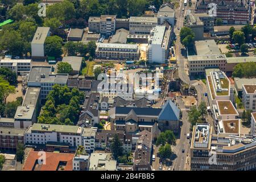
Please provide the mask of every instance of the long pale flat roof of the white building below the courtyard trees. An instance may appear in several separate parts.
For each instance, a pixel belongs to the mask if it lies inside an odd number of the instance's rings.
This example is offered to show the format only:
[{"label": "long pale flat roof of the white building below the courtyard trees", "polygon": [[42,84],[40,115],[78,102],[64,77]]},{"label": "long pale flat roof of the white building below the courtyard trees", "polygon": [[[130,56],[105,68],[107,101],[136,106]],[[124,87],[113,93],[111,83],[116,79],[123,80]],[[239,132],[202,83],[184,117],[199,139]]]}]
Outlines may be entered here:
[{"label": "long pale flat roof of the white building below the courtyard trees", "polygon": [[47,125],[47,124],[41,124],[41,123],[34,123],[34,125],[31,126],[31,131],[46,131],[46,132],[80,134],[82,132],[82,128],[79,126]]}]

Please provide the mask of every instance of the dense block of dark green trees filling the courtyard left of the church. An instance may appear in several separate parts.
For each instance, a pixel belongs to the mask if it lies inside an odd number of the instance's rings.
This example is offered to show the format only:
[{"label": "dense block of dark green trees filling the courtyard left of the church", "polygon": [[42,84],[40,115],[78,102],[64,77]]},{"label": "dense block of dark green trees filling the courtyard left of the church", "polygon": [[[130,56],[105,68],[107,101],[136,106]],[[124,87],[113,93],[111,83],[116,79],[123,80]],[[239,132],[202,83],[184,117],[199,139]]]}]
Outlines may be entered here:
[{"label": "dense block of dark green trees filling the courtyard left of the church", "polygon": [[70,90],[67,86],[53,85],[46,100],[38,123],[74,125],[79,119],[84,93],[77,88]]}]

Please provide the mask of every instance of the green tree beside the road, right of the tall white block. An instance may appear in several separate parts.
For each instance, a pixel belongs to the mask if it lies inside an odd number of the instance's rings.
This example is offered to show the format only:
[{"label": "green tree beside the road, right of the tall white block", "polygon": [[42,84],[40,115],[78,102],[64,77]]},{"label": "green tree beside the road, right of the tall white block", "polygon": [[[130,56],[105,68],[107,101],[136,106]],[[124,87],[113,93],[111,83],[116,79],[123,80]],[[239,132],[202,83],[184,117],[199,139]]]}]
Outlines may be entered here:
[{"label": "green tree beside the road, right of the tall white block", "polygon": [[180,30],[180,42],[185,47],[190,47],[195,41],[195,33],[189,27],[182,27]]}]

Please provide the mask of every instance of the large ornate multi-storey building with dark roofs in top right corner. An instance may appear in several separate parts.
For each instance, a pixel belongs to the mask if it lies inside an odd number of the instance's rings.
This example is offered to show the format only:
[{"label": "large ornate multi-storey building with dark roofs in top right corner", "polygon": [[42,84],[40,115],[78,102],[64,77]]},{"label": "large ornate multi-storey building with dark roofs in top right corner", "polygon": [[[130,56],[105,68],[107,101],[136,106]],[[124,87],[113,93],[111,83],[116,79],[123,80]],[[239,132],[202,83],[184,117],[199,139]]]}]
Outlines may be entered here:
[{"label": "large ornate multi-storey building with dark roofs in top right corner", "polygon": [[249,0],[200,0],[196,4],[195,13],[208,13],[210,3],[216,4],[215,19],[221,18],[224,24],[247,24],[250,23],[251,7]]}]

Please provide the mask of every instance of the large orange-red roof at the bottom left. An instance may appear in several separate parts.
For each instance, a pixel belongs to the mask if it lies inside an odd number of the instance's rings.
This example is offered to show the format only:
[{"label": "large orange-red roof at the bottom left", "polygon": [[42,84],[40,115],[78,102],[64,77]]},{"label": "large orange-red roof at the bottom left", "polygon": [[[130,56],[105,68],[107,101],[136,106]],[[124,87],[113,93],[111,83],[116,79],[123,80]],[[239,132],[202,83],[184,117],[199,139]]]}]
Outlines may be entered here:
[{"label": "large orange-red roof at the bottom left", "polygon": [[[35,166],[36,160],[40,158],[38,151],[30,151],[27,160],[24,164],[23,171],[32,171]],[[67,162],[64,167],[64,171],[72,171],[73,169],[73,158],[75,154],[65,153],[53,153],[46,152],[46,164],[41,164],[36,167],[36,171],[56,171],[60,162]]]}]

